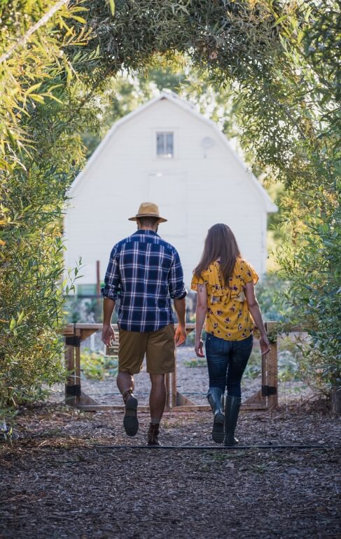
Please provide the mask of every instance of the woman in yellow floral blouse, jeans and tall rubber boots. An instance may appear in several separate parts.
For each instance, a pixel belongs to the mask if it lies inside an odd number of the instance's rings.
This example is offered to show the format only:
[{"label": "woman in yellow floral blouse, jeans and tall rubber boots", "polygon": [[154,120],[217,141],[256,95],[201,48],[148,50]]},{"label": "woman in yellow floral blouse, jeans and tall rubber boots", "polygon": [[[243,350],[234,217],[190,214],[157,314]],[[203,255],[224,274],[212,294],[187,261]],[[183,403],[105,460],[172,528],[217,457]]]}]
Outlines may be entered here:
[{"label": "woman in yellow floral blouse, jeans and tall rubber boots", "polygon": [[[211,226],[202,258],[193,272],[191,288],[197,291],[195,353],[198,357],[204,357],[201,334],[206,318],[207,399],[214,413],[212,438],[224,445],[238,443],[235,428],[242,401],[240,382],[252,350],[253,320],[260,332],[262,355],[270,350],[253,288],[257,281],[258,275],[241,257],[231,229],[225,224]],[[225,386],[228,395],[224,417]]]}]

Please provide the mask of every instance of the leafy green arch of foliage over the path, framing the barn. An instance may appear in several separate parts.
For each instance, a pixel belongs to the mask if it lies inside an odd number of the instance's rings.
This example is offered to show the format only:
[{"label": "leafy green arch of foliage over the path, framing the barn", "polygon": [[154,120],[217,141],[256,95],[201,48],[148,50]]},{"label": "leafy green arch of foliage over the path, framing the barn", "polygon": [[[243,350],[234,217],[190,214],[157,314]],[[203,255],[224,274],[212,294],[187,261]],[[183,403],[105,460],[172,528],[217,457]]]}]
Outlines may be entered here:
[{"label": "leafy green arch of foliage over the path, framing the barn", "polygon": [[[155,64],[179,64],[183,55],[214,88],[232,87],[254,167],[286,186],[292,233],[281,263],[298,318],[313,328],[309,361],[318,357],[323,380],[335,383],[340,341],[324,328],[340,299],[333,255],[340,249],[338,3],[120,0],[113,15],[113,2],[69,1],[20,44],[54,5],[4,0],[0,7],[2,402],[30,398],[60,372],[58,227],[67,187],[83,165],[79,133],[98,121],[97,96],[121,69],[145,73]],[[319,223],[333,248],[326,249]],[[305,301],[316,253],[328,271],[316,289],[316,280],[309,284]],[[319,308],[326,294],[335,299],[329,310]],[[340,325],[334,317],[338,334]],[[53,348],[41,346],[42,336]]]}]

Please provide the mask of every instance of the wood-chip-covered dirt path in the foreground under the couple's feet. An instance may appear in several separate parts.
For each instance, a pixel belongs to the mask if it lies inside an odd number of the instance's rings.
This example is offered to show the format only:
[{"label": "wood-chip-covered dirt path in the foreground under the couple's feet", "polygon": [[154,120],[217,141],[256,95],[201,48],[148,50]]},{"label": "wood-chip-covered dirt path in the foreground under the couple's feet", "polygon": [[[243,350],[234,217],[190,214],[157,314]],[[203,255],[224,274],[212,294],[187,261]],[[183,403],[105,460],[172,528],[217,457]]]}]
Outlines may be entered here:
[{"label": "wood-chip-covered dirt path in the foreground under the couple's feet", "polygon": [[0,538],[340,537],[340,425],[317,404],[239,421],[245,444],[321,444],[311,450],[215,450],[204,412],[165,416],[162,443],[212,449],[106,449],[145,443],[148,416],[135,439],[122,418],[59,405],[20,415],[20,439],[0,448]]}]

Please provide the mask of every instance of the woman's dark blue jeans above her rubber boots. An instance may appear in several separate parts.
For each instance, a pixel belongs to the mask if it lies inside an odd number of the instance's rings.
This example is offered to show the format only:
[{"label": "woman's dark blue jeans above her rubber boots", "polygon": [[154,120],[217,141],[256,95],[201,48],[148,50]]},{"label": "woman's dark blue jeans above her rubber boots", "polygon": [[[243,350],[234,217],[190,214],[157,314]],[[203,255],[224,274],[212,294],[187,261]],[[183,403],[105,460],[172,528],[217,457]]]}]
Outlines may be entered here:
[{"label": "woman's dark blue jeans above her rubber boots", "polygon": [[206,357],[209,369],[209,387],[220,388],[223,393],[240,397],[240,382],[249,361],[253,345],[253,335],[242,341],[225,341],[207,333]]}]

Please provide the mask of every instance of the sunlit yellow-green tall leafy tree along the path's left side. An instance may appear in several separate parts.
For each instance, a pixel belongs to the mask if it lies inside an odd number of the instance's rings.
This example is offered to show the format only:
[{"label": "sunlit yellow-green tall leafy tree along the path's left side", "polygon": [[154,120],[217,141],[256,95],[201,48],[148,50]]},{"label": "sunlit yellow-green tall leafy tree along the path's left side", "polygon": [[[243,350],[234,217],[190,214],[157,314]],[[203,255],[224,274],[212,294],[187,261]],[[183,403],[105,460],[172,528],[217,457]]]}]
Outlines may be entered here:
[{"label": "sunlit yellow-green tall leafy tree along the path's left side", "polygon": [[64,371],[60,222],[67,186],[84,163],[69,112],[81,96],[64,50],[88,38],[68,25],[84,24],[81,3],[60,2],[53,13],[55,6],[3,1],[0,7],[0,414],[41,397],[43,384]]}]

